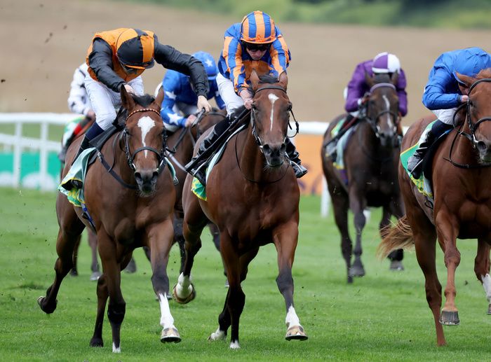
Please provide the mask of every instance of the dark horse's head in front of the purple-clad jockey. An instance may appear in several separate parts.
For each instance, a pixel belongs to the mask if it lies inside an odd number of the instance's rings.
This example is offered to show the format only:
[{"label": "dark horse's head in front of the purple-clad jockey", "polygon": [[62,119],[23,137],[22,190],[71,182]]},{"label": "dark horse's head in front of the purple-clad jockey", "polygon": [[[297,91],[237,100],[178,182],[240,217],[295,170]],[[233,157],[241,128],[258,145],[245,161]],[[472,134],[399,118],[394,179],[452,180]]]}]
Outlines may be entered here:
[{"label": "dark horse's head in front of the purple-clad jockey", "polygon": [[377,74],[373,78],[365,73],[370,87],[365,103],[365,116],[383,147],[398,146],[399,97],[396,84],[398,73]]}]

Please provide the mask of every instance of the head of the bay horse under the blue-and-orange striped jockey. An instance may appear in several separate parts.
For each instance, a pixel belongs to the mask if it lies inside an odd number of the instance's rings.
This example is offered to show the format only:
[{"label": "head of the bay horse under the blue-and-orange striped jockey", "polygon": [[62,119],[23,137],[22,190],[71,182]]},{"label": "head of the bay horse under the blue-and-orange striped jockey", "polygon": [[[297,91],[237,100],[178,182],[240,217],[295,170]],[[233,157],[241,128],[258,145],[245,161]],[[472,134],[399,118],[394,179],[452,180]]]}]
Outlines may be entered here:
[{"label": "head of the bay horse under the blue-and-orange striped jockey", "polygon": [[285,162],[285,138],[292,104],[286,95],[288,78],[283,72],[279,80],[271,76],[250,76],[253,109],[250,122],[268,167],[280,167]]}]

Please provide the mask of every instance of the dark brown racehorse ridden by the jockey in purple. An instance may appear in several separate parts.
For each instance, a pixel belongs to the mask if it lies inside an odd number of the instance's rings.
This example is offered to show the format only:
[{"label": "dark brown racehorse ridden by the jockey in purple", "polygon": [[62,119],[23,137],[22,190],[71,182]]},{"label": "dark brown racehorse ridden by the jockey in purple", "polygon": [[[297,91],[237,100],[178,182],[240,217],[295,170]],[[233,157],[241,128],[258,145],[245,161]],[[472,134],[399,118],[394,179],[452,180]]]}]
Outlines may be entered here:
[{"label": "dark brown racehorse ridden by the jockey in purple", "polygon": [[[398,74],[394,73],[391,77],[388,74],[377,74],[374,78],[365,74],[365,78],[370,92],[361,110],[362,116],[359,116],[360,120],[344,151],[347,185],[330,156],[325,154],[324,146],[321,149],[323,172],[336,225],[341,233],[341,251],[347,265],[348,283],[353,282],[353,277],[365,275],[361,261],[361,232],[366,221],[363,210],[367,207],[383,208],[382,221],[379,223],[381,235],[392,215],[401,218],[404,214],[401,190],[397,183],[400,118],[395,85]],[[331,139],[331,130],[346,116],[338,116],[330,123],[324,134],[324,145]],[[354,214],[354,250],[348,232],[348,209]],[[354,262],[351,265],[353,251]],[[402,265],[403,251],[394,251],[389,258],[392,260],[391,269],[396,269],[397,265]]]}]

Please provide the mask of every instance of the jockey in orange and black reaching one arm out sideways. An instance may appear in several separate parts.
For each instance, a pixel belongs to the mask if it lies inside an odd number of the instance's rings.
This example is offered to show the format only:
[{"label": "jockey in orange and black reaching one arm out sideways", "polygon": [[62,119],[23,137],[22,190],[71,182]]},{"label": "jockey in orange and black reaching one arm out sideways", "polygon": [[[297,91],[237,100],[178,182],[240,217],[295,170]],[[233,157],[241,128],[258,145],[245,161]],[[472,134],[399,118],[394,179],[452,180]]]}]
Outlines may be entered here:
[{"label": "jockey in orange and black reaching one arm out sideways", "polygon": [[189,74],[198,95],[198,108],[211,110],[206,99],[206,71],[199,60],[171,46],[160,44],[157,36],[148,30],[119,28],[98,32],[88,48],[88,76],[85,80],[96,123],[86,132],[74,160],[90,147],[91,139],[112,125],[116,118],[114,107],[121,105],[121,87],[129,93],[143,95],[141,74],[145,69],[152,68],[154,62]]}]

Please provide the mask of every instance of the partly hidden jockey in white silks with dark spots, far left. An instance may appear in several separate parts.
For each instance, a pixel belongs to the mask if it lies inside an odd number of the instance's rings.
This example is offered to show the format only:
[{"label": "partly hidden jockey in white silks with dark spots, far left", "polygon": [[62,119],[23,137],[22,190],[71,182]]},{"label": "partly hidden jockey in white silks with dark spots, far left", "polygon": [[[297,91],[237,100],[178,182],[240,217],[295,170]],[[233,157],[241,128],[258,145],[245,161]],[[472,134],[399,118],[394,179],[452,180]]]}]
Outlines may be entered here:
[{"label": "partly hidden jockey in white silks with dark spots, far left", "polygon": [[70,93],[68,95],[68,108],[72,113],[78,113],[85,118],[83,118],[78,125],[72,131],[67,139],[63,140],[62,149],[58,153],[58,158],[61,162],[65,162],[65,156],[67,155],[67,149],[72,144],[72,141],[82,132],[83,128],[88,125],[88,123],[95,120],[95,113],[90,106],[90,100],[86,92],[85,82],[86,76],[88,74],[88,66],[82,63],[74,71],[74,76],[72,83],[70,84]]}]

